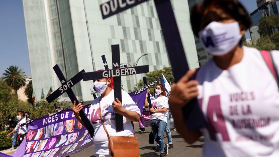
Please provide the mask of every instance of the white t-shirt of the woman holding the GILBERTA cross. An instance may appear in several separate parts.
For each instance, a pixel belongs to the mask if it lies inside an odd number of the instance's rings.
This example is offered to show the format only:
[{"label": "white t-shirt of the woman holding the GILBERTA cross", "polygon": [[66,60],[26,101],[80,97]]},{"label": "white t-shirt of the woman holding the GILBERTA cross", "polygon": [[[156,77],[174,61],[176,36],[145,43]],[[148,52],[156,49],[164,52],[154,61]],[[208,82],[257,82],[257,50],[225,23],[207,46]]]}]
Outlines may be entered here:
[{"label": "white t-shirt of the woman holding the GILBERTA cross", "polygon": [[[93,100],[92,105],[90,106],[88,111],[88,119],[95,130],[95,134],[93,137],[93,142],[95,144],[94,156],[110,157],[107,134],[103,128],[103,124],[101,122],[99,111],[98,111],[99,100],[100,97]],[[127,120],[124,116],[123,116],[124,130],[121,132],[116,132],[115,112],[113,112],[113,108],[112,108],[113,101],[114,101],[114,90],[111,90],[111,92],[107,96],[103,97],[100,101],[102,119],[104,121],[105,127],[107,128],[107,132],[109,133],[109,136],[134,136],[133,126],[131,124],[131,121]],[[139,108],[132,100],[132,98],[129,96],[129,94],[127,94],[125,91],[122,91],[122,106],[126,110],[137,112],[141,117]]]}]

